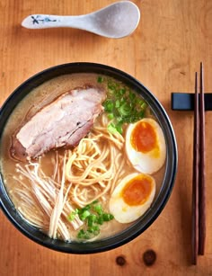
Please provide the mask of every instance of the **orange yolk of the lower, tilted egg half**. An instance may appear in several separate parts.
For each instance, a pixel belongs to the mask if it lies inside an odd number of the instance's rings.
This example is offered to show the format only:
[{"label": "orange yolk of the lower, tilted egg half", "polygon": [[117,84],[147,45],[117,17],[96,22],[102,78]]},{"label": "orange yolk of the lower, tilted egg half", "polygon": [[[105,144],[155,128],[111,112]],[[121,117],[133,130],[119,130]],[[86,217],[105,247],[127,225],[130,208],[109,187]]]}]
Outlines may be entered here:
[{"label": "orange yolk of the lower, tilted egg half", "polygon": [[144,204],[152,191],[152,179],[148,175],[139,174],[131,179],[122,190],[122,199],[129,206]]}]

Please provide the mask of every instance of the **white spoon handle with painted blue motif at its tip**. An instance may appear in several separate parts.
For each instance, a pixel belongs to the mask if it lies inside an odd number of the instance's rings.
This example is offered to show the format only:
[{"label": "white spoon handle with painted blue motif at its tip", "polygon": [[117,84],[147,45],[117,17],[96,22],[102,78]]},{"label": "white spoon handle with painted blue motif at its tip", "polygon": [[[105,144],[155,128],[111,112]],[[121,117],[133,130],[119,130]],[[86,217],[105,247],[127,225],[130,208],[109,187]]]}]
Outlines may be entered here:
[{"label": "white spoon handle with painted blue motif at its tip", "polygon": [[86,15],[60,16],[49,14],[31,14],[22,21],[22,27],[27,29],[71,27],[86,30],[90,24],[91,22],[89,22]]}]

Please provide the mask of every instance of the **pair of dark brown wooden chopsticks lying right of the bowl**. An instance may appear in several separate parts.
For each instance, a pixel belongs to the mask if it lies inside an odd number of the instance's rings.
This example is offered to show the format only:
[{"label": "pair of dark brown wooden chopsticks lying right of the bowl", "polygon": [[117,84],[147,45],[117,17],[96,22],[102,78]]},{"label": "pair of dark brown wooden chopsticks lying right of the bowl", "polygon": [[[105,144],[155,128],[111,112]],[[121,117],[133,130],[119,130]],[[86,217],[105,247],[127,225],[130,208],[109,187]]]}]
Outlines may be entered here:
[{"label": "pair of dark brown wooden chopsticks lying right of the bowl", "polygon": [[205,251],[206,239],[206,192],[205,192],[205,97],[203,64],[200,76],[195,74],[193,183],[192,183],[192,263]]}]

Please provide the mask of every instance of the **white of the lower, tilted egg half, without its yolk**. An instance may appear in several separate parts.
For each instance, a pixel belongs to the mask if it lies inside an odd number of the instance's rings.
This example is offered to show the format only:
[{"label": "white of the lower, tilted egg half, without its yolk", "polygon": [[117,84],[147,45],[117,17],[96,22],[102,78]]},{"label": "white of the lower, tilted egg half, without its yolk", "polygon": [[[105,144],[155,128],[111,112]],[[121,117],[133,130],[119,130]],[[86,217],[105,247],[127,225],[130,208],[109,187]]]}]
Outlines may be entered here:
[{"label": "white of the lower, tilted egg half, without its yolk", "polygon": [[151,179],[152,190],[148,196],[148,199],[143,204],[139,204],[137,206],[129,206],[122,198],[122,190],[126,186],[126,184],[134,177],[139,175],[138,173],[129,174],[125,178],[121,180],[115,190],[112,192],[109,202],[110,213],[114,216],[114,218],[120,223],[129,223],[140,218],[147,209],[150,208],[154,198],[156,191],[155,179],[148,175]]}]

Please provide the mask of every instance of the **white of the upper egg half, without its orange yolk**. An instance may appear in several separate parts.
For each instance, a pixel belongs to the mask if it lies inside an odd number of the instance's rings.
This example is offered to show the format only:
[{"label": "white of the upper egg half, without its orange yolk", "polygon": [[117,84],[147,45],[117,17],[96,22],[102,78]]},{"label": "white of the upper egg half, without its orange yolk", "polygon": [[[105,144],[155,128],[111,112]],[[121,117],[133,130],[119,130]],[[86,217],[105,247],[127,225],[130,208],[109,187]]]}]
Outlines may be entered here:
[{"label": "white of the upper egg half, without its orange yolk", "polygon": [[[140,121],[144,121],[149,123],[156,133],[157,140],[157,149],[153,149],[147,153],[138,152],[132,147],[130,142],[130,137],[133,129],[136,127],[137,123],[129,124],[127,133],[126,133],[126,153],[128,156],[128,160],[134,166],[134,168],[141,173],[144,174],[154,174],[158,170],[160,170],[165,162],[166,157],[166,145],[165,138],[163,135],[163,130],[159,126],[159,124],[150,118],[145,118]],[[156,151],[156,154],[155,154]]]}]

